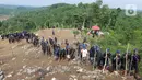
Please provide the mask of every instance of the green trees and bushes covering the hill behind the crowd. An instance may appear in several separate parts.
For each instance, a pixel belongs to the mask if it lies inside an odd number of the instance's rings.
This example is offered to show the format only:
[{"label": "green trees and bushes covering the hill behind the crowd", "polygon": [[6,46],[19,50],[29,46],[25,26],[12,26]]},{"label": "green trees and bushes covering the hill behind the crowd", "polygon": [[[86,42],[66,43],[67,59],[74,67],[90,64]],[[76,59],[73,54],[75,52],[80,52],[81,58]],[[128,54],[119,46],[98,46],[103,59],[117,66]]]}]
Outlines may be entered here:
[{"label": "green trees and bushes covering the hill behind the crowd", "polygon": [[[0,9],[1,10],[1,9]],[[94,3],[66,4],[58,3],[37,11],[28,11],[0,22],[0,34],[15,31],[34,31],[45,27],[79,27],[91,28],[92,25],[100,26],[102,31],[109,32],[104,38],[90,38],[91,44],[97,43],[105,48],[126,52],[127,44],[130,50],[139,48],[142,53],[142,12],[135,16],[127,16],[125,10],[110,9],[102,0]],[[86,31],[85,31],[86,32]],[[76,34],[76,32],[73,32]],[[142,62],[140,69],[142,72]]]}]

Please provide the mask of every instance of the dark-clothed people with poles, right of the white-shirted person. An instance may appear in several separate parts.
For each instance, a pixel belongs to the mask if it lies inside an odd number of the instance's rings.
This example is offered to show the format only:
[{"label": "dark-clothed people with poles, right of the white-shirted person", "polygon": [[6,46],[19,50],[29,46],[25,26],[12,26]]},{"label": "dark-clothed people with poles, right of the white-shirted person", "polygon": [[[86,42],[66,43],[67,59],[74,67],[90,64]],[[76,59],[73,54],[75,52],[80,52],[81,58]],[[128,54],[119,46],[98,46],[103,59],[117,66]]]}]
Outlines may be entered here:
[{"label": "dark-clothed people with poles, right of the white-shirted person", "polygon": [[137,48],[133,49],[132,53],[129,52],[121,54],[120,50],[117,50],[115,54],[111,54],[110,49],[106,49],[105,53],[102,53],[98,46],[92,46],[90,49],[90,61],[92,65],[97,67],[103,67],[106,62],[105,67],[108,70],[126,70],[127,67],[128,72],[134,70],[134,73],[138,73],[138,65],[141,61],[141,57]]}]

